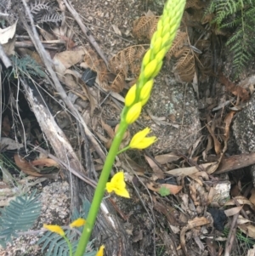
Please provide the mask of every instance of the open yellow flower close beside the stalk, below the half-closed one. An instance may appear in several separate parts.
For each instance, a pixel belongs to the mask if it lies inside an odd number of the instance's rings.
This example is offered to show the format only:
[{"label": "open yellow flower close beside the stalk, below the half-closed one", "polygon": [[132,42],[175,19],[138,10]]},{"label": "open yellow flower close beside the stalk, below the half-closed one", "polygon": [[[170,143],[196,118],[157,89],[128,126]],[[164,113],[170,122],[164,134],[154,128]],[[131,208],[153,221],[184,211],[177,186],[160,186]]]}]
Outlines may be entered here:
[{"label": "open yellow flower close beside the stalk, below the half-closed one", "polygon": [[116,195],[130,198],[129,193],[126,189],[126,183],[124,180],[124,173],[116,173],[110,182],[106,183],[106,191],[111,193],[114,191]]}]

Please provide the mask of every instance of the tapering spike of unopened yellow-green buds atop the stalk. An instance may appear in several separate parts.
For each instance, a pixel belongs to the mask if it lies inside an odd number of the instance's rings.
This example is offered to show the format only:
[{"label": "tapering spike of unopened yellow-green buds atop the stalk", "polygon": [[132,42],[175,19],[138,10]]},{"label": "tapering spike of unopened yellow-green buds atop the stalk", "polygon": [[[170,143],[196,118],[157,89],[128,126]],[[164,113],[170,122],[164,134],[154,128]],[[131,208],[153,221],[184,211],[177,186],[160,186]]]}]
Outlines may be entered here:
[{"label": "tapering spike of unopened yellow-green buds atop the stalk", "polygon": [[139,117],[142,106],[150,99],[154,77],[161,70],[163,58],[173,43],[184,13],[185,0],[167,1],[164,12],[150,41],[150,49],[144,55],[139,80],[129,89],[125,98],[124,117],[131,124]]}]

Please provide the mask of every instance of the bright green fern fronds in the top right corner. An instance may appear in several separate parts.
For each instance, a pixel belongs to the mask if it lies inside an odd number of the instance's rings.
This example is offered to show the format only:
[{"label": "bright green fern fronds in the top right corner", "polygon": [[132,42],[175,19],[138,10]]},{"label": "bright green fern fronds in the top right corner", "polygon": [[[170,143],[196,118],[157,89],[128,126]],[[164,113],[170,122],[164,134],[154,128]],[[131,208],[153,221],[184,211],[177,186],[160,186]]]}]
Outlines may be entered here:
[{"label": "bright green fern fronds in the top right corner", "polygon": [[206,14],[210,13],[215,13],[212,24],[216,24],[219,29],[234,30],[226,46],[233,54],[233,73],[236,78],[255,53],[255,1],[212,0],[206,10]]}]

